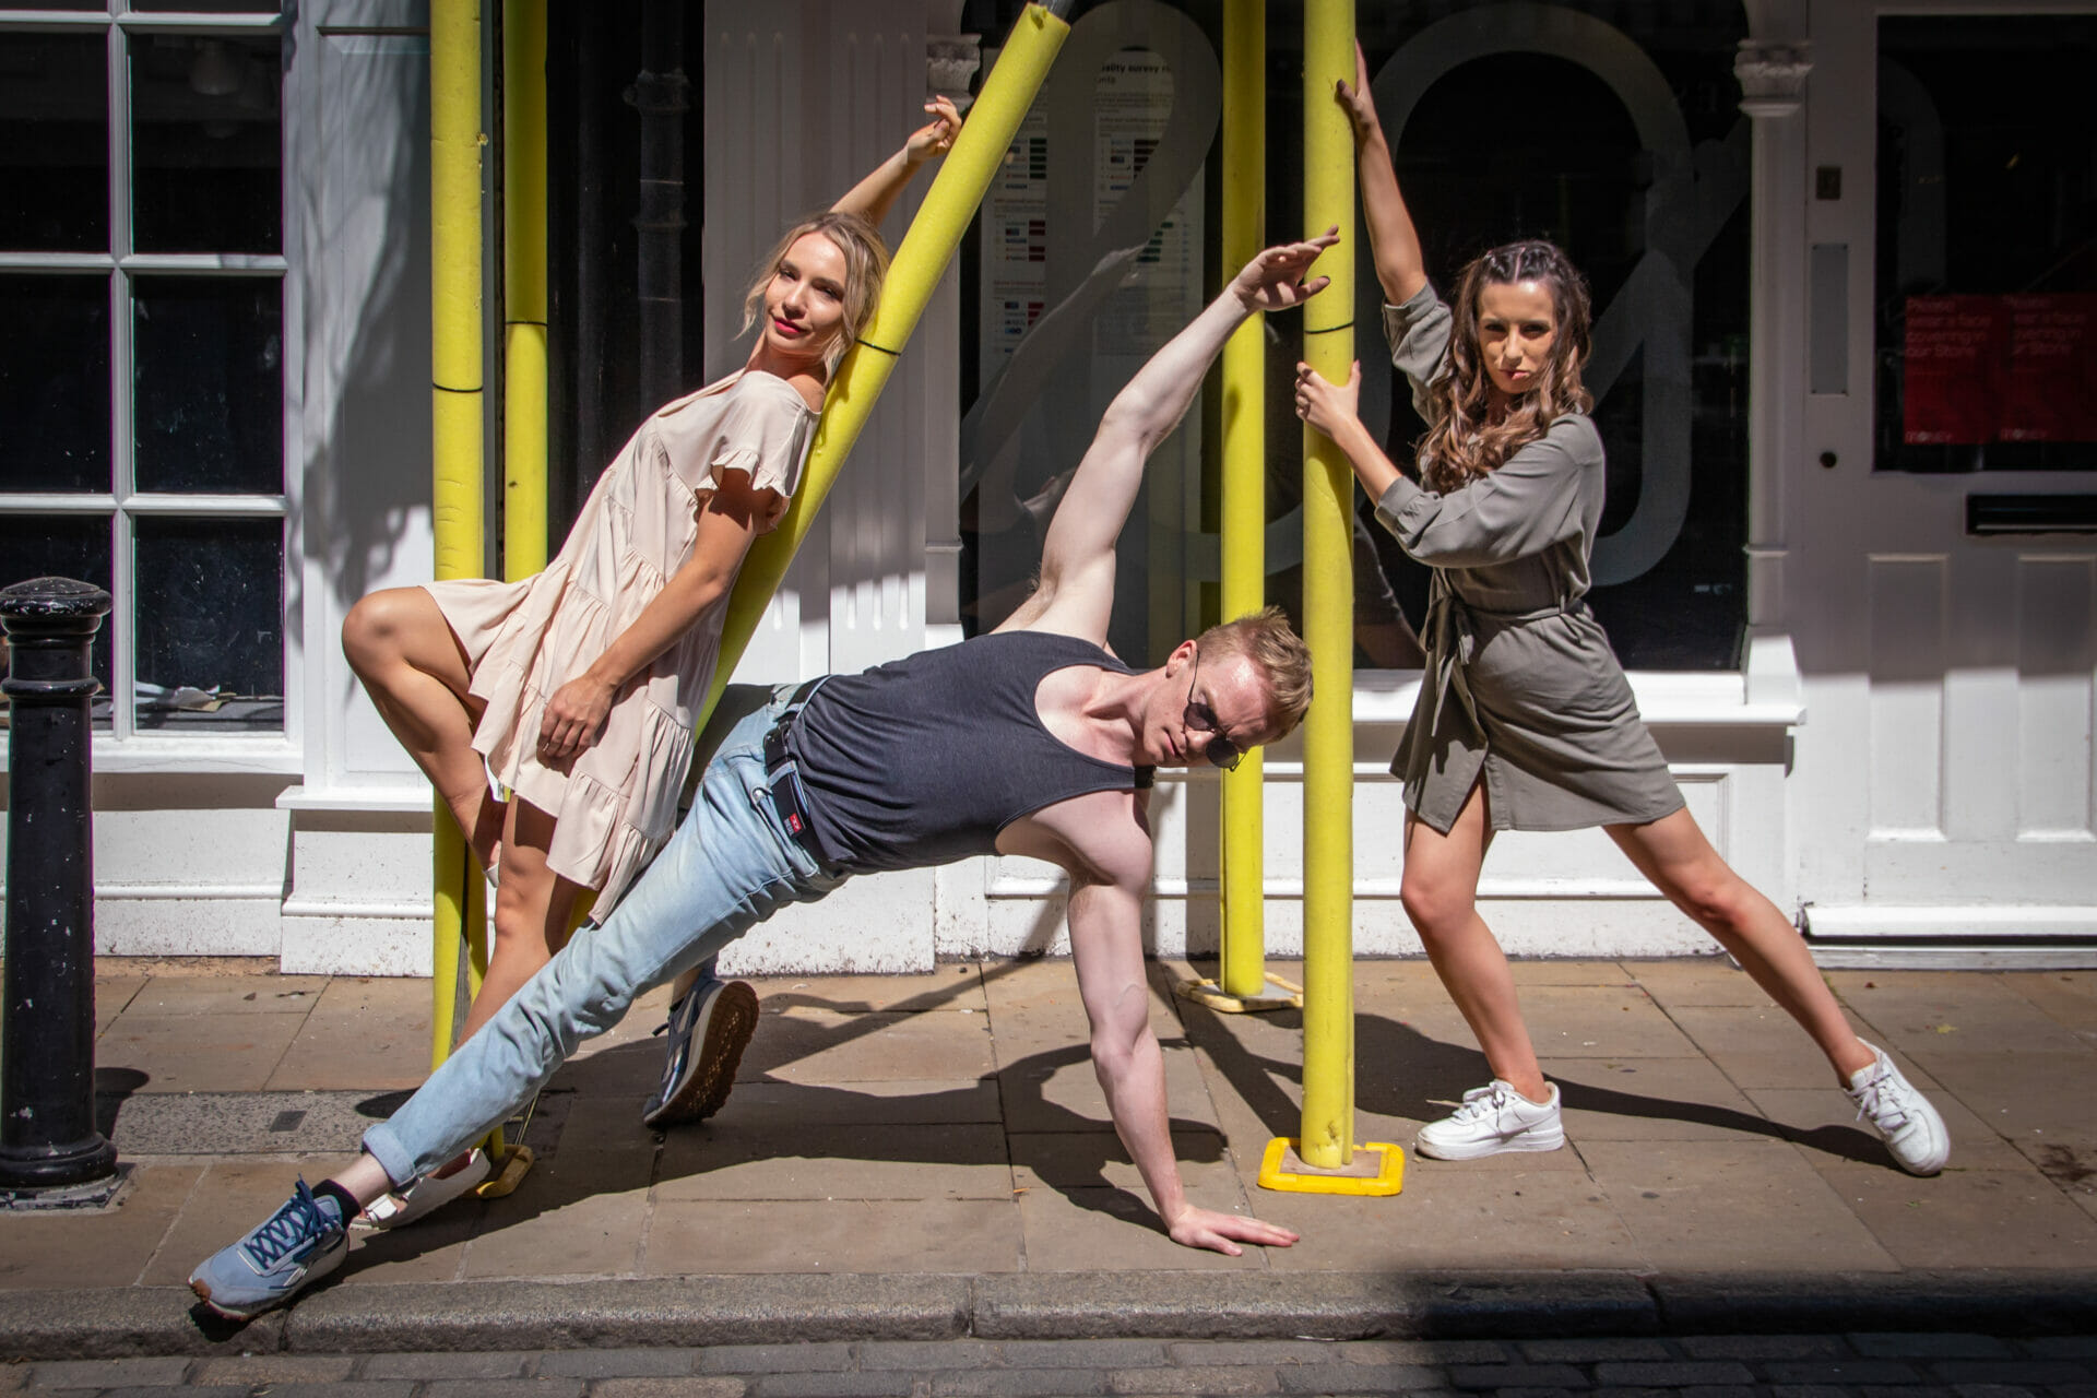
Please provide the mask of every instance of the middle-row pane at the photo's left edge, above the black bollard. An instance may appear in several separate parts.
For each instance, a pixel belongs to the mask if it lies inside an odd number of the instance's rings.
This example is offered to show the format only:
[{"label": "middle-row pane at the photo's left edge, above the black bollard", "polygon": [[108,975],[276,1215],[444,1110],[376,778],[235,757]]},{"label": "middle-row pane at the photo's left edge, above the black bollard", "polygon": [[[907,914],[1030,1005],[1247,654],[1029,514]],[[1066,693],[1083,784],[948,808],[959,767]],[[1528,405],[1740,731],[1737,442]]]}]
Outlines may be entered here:
[{"label": "middle-row pane at the photo's left edge, above the black bollard", "polygon": [[109,490],[109,279],[0,277],[0,490]]}]

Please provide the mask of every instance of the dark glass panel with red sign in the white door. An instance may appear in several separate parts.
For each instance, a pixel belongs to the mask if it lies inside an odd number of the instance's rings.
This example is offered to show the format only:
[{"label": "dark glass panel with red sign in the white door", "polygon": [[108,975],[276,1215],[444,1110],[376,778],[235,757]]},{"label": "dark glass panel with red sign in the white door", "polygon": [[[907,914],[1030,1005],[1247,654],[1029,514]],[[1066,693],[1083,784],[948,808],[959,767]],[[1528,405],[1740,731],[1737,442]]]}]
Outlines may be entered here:
[{"label": "dark glass panel with red sign in the white door", "polygon": [[1877,469],[2097,469],[2097,17],[1879,21]]}]

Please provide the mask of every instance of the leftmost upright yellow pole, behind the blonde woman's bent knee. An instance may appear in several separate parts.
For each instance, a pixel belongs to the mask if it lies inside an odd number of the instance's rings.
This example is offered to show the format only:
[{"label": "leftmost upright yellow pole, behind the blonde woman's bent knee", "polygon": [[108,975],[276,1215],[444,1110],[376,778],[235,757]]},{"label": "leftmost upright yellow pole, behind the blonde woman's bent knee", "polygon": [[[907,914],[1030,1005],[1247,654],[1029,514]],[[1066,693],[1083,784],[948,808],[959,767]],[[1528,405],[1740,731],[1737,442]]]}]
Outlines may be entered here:
[{"label": "leftmost upright yellow pole, behind the blonde woman's bent knee", "polygon": [[[480,4],[430,4],[430,528],[438,578],[478,578],[480,434]],[[430,1067],[451,1054],[459,937],[480,916],[480,878],[440,799],[432,815],[434,979]],[[484,918],[480,918],[484,920]]]}]

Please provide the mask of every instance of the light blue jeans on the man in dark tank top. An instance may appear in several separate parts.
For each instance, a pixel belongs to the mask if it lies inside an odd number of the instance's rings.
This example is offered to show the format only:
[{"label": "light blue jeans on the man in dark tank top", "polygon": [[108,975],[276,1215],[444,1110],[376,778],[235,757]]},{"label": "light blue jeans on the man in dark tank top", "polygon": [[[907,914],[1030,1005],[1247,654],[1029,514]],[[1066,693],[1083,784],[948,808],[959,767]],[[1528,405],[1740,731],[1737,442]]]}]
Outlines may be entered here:
[{"label": "light blue jeans on the man in dark tank top", "polygon": [[612,916],[579,931],[392,1119],[365,1132],[365,1151],[394,1184],[487,1136],[644,991],[845,880],[795,845],[772,809],[763,738],[788,694],[776,692],[730,729],[692,813]]}]

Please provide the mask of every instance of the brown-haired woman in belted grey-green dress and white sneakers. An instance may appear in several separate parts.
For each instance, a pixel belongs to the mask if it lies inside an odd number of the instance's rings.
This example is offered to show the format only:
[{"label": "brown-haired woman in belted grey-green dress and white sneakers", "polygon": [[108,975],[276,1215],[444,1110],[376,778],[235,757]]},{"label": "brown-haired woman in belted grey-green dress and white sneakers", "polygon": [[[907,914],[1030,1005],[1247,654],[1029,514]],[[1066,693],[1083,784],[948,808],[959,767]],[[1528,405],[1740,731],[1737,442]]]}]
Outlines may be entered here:
[{"label": "brown-haired woman in belted grey-green dress and white sneakers", "polygon": [[1478,870],[1495,830],[1602,826],[1814,1037],[1894,1159],[1936,1174],[1950,1151],[1942,1117],[1856,1037],[1806,941],[1696,828],[1583,602],[1604,469],[1581,388],[1581,275],[1550,243],[1510,243],[1464,268],[1443,304],[1359,57],[1355,86],[1338,84],[1336,96],[1355,124],[1392,363],[1428,421],[1422,480],[1363,428],[1361,365],[1346,384],[1298,365],[1296,411],[1353,461],[1378,522],[1434,570],[1426,679],[1392,763],[1407,805],[1399,895],[1493,1069],[1451,1117],[1420,1130],[1418,1149],[1472,1159],[1564,1142],[1558,1088],[1543,1079],[1508,958],[1478,916]]}]

